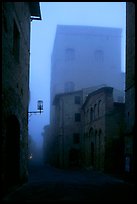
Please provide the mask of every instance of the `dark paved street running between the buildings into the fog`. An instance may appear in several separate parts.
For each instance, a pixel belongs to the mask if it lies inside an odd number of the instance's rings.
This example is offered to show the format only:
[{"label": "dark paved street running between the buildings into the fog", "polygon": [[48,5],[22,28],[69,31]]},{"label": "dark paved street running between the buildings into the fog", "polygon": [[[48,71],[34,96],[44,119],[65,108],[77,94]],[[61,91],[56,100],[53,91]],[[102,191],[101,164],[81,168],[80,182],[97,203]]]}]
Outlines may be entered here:
[{"label": "dark paved street running between the buildings into the fog", "polygon": [[5,202],[135,203],[134,186],[92,170],[60,170],[31,166],[29,182]]}]

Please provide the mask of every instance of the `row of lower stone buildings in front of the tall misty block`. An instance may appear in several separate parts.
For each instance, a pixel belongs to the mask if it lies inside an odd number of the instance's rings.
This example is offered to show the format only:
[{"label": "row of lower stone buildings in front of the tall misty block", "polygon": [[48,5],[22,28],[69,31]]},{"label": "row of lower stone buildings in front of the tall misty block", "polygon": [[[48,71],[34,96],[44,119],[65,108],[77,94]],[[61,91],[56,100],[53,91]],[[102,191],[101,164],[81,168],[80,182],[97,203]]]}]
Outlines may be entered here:
[{"label": "row of lower stone buildings in front of the tall misty block", "polygon": [[124,92],[91,87],[57,94],[53,104],[53,164],[115,173],[123,170]]}]

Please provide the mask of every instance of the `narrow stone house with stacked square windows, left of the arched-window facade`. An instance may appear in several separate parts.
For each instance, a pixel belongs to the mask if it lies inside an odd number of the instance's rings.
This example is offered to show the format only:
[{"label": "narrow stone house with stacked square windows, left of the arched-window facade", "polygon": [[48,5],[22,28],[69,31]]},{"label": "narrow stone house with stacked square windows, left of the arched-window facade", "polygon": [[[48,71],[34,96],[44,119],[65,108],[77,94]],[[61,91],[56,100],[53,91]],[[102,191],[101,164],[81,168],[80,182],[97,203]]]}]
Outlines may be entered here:
[{"label": "narrow stone house with stacked square windows, left of the arched-window facade", "polygon": [[55,163],[68,168],[80,165],[82,91],[57,94],[55,105]]}]

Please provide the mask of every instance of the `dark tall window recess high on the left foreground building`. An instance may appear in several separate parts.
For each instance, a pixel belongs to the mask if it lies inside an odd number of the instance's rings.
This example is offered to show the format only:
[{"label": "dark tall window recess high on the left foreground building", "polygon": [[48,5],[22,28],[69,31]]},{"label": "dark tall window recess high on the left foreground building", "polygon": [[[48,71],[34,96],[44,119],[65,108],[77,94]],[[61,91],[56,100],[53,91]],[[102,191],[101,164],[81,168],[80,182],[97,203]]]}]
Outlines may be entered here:
[{"label": "dark tall window recess high on the left foreground building", "polygon": [[13,55],[17,62],[19,62],[20,55],[20,33],[16,22],[14,21],[13,27]]}]

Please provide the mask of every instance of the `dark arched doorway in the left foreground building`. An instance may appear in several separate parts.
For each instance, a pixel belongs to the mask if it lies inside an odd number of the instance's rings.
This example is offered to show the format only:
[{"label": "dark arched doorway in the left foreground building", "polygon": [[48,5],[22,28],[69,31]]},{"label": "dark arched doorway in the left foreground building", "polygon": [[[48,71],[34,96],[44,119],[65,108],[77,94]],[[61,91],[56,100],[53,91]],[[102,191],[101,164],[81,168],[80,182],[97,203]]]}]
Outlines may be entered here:
[{"label": "dark arched doorway in the left foreground building", "polygon": [[6,124],[6,184],[17,184],[20,175],[20,125],[17,117],[11,115]]}]

